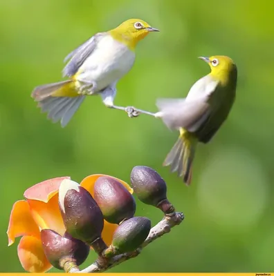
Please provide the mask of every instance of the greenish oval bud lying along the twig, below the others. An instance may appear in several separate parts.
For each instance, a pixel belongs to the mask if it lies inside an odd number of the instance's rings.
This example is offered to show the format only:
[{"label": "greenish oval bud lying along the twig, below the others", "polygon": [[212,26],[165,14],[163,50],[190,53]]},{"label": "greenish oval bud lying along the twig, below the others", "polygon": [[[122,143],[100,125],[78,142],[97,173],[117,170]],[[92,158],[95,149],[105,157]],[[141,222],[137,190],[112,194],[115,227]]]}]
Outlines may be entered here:
[{"label": "greenish oval bud lying along the twig, below the others", "polygon": [[131,217],[123,221],[113,234],[112,244],[105,255],[136,250],[149,235],[151,222],[147,217]]}]

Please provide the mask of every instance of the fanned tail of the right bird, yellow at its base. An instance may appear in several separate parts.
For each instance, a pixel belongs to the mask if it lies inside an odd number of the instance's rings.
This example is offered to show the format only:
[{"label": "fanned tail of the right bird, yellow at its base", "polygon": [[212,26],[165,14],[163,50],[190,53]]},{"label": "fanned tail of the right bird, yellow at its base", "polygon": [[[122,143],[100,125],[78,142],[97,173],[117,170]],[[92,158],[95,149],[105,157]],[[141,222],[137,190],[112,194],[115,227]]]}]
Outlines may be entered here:
[{"label": "fanned tail of the right bird, yellow at its base", "polygon": [[180,136],[168,153],[163,166],[170,166],[172,172],[183,177],[185,184],[190,185],[192,179],[192,163],[197,146],[197,138],[181,128]]}]

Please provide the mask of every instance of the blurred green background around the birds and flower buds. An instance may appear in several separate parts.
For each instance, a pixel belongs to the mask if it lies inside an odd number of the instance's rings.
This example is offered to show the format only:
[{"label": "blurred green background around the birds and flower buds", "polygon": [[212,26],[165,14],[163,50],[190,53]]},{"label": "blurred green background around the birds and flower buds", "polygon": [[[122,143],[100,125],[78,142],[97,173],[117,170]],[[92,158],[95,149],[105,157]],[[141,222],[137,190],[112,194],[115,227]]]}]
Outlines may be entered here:
[{"label": "blurred green background around the birds and flower buds", "polygon": [[[244,0],[1,0],[1,271],[24,271],[19,239],[8,248],[6,229],[26,188],[93,173],[129,181],[136,165],[158,170],[185,221],[111,272],[274,271],[273,9],[273,1]],[[162,167],[178,135],[162,121],[129,119],[91,97],[63,129],[30,98],[35,86],[62,79],[73,48],[129,18],[161,32],[138,45],[134,68],[118,83],[118,105],[156,111],[157,97],[185,97],[209,72],[198,56],[228,55],[237,63],[235,106],[212,142],[199,146],[190,187]],[[136,215],[153,224],[162,218],[140,202]]]}]

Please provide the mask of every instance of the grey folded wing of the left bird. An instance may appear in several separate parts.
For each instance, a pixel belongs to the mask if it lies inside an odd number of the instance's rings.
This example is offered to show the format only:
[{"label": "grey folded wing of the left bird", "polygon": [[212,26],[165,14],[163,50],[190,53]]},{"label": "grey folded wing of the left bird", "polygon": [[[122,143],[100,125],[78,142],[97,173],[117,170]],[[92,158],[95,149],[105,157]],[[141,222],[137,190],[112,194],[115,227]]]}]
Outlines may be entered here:
[{"label": "grey folded wing of the left bird", "polygon": [[64,62],[68,61],[69,59],[70,61],[66,63],[66,66],[63,69],[63,77],[72,77],[75,75],[86,58],[91,55],[93,50],[95,50],[96,46],[98,45],[98,41],[102,39],[105,34],[105,32],[98,32],[98,34],[95,34],[93,37],[85,41],[82,45],[66,56]]}]

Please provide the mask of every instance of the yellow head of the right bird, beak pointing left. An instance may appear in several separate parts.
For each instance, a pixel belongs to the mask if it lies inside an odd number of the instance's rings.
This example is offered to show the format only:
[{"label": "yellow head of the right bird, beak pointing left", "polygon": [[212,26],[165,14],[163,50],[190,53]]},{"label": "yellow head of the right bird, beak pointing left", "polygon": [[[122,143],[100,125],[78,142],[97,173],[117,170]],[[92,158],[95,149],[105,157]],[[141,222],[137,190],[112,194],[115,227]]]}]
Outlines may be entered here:
[{"label": "yellow head of the right bird, beak pointing left", "polygon": [[206,61],[210,66],[210,75],[221,82],[229,81],[232,78],[237,79],[237,66],[226,56],[199,57]]}]

